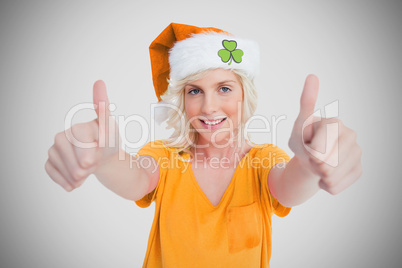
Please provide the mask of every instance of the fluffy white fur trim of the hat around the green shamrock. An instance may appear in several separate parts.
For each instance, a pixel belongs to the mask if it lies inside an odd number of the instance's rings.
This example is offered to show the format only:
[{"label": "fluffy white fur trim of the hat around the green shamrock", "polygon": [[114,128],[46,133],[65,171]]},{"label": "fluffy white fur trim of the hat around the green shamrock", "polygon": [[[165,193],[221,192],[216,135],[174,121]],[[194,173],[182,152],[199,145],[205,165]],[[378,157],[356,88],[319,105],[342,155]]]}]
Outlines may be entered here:
[{"label": "fluffy white fur trim of the hat around the green shamrock", "polygon": [[[224,40],[226,45],[230,42],[231,48],[224,47]],[[235,49],[233,41],[237,43]],[[218,54],[220,50],[227,50],[222,54],[230,55],[230,59],[224,62],[227,57],[222,58]],[[236,55],[232,56],[236,50]],[[242,56],[238,50],[243,52]],[[170,79],[177,81],[208,69],[223,68],[242,70],[252,80],[259,72],[259,54],[258,44],[252,40],[215,32],[194,34],[176,42],[170,50]],[[236,62],[236,59],[241,61]]]}]

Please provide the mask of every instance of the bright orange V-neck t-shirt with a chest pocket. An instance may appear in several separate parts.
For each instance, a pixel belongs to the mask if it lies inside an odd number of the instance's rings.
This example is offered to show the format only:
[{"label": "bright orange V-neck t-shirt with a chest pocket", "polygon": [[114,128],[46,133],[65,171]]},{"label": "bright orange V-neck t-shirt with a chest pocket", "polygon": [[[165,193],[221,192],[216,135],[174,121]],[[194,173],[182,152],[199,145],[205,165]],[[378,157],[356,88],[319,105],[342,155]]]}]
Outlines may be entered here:
[{"label": "bright orange V-neck t-shirt with a chest pocket", "polygon": [[269,267],[271,216],[290,212],[268,190],[271,167],[289,161],[282,149],[255,145],[217,206],[177,150],[154,141],[139,155],[152,156],[160,169],[155,190],[136,201],[143,208],[155,201],[143,267]]}]

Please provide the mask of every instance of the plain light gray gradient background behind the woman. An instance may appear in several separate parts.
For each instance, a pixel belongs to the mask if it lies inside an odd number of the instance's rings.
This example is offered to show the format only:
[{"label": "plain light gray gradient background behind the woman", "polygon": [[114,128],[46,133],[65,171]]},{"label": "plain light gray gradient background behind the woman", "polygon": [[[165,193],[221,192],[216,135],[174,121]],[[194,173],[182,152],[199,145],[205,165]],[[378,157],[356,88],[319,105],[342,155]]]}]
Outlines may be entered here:
[{"label": "plain light gray gradient background behind the woman", "polygon": [[[338,100],[340,118],[358,133],[362,178],[274,216],[271,266],[401,267],[401,1],[253,0],[1,2],[0,267],[141,266],[153,206],[140,209],[93,176],[67,193],[44,163],[66,113],[92,101],[97,79],[116,115],[149,118],[148,45],[172,21],[260,43],[257,113],[287,116],[277,144],[289,154],[309,73],[321,81],[317,107]],[[127,128],[132,141],[139,132]]]}]

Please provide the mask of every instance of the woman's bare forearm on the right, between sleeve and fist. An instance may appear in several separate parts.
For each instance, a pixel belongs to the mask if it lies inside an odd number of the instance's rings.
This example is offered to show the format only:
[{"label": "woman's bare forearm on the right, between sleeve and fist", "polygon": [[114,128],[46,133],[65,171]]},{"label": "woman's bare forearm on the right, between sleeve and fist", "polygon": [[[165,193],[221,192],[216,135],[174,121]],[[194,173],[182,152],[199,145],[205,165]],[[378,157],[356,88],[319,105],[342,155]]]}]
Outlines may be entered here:
[{"label": "woman's bare forearm on the right, between sleeve and fist", "polygon": [[287,207],[300,205],[320,189],[320,177],[303,167],[297,157],[293,157],[281,171],[274,171],[272,184],[274,196]]}]

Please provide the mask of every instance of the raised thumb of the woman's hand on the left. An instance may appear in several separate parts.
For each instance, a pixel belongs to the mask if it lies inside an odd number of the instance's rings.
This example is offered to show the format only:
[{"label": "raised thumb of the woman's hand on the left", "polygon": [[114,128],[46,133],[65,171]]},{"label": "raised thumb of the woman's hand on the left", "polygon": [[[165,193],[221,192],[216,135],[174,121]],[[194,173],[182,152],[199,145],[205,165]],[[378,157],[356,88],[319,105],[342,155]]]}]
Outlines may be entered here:
[{"label": "raised thumb of the woman's hand on the left", "polygon": [[99,125],[99,146],[105,146],[106,142],[106,123],[107,118],[110,115],[109,112],[109,98],[107,97],[106,85],[102,80],[98,80],[94,83],[93,87],[93,102],[96,114],[98,116],[97,121]]}]

